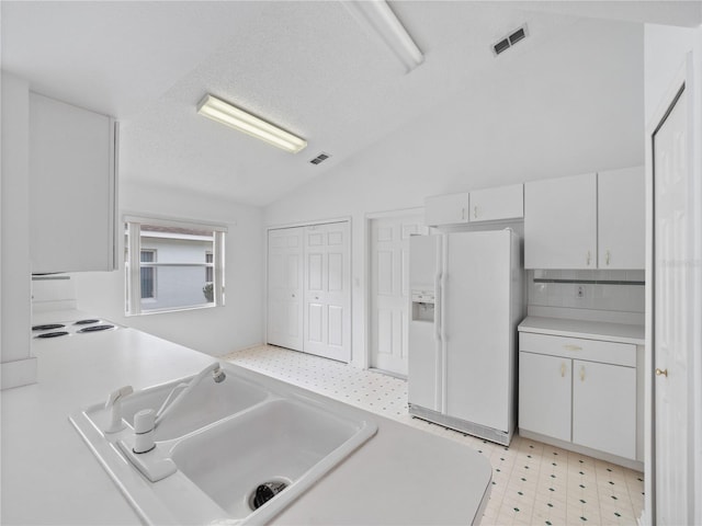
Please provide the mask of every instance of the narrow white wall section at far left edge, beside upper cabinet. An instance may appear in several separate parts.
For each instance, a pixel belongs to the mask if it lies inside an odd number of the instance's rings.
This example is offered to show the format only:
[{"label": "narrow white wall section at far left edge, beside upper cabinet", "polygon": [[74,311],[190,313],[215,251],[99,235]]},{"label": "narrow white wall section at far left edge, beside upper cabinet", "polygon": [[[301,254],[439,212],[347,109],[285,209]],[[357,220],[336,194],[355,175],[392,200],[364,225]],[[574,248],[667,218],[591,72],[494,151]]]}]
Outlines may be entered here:
[{"label": "narrow white wall section at far left edge, beside upper cabinet", "polygon": [[2,388],[36,381],[30,356],[30,178],[27,83],[2,72]]}]

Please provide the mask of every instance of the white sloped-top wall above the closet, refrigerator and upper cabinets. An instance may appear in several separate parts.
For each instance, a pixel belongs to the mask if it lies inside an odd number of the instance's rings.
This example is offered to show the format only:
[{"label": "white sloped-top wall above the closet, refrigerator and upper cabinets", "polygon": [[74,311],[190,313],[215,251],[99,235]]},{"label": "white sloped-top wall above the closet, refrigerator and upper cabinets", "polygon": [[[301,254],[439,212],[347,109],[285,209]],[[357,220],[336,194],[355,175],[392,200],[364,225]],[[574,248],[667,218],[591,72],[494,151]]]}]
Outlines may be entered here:
[{"label": "white sloped-top wall above the closet, refrigerator and upper cabinets", "polygon": [[[625,52],[602,52],[595,43],[593,56],[577,61],[562,56],[558,46],[539,49],[540,59],[553,64],[546,78],[520,66],[510,77],[500,71],[482,78],[362,157],[267,207],[268,226],[352,217],[353,364],[366,365],[366,214],[423,206],[428,195],[643,164],[643,85],[612,93],[626,84],[624,78],[643,82],[643,27],[604,24],[602,31],[625,35]],[[618,54],[630,59],[613,61],[621,60]],[[574,71],[575,62],[582,71]],[[611,72],[610,82],[590,75],[596,64]],[[610,111],[613,99],[618,108]],[[608,106],[604,117],[598,104]],[[588,108],[584,121],[555,124],[564,113],[580,115],[578,107]],[[589,132],[598,127],[601,133]]]}]

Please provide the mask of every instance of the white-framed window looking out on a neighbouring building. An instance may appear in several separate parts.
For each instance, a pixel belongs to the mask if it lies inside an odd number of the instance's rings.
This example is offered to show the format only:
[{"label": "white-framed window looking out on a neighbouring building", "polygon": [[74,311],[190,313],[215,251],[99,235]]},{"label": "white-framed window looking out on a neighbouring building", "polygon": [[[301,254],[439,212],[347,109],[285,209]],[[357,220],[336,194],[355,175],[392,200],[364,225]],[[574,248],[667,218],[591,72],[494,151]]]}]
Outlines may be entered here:
[{"label": "white-framed window looking out on a neighbouring building", "polygon": [[226,228],[125,218],[128,316],[224,305]]}]

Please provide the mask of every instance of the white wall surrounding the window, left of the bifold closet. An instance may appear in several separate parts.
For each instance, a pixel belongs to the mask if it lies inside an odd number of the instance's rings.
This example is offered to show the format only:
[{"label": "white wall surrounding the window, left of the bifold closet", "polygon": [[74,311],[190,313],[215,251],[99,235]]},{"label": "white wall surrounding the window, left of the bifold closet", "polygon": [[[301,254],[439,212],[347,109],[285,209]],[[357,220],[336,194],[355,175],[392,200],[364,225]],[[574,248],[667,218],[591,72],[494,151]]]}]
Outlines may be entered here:
[{"label": "white wall surrounding the window, left of the bifold closet", "polygon": [[124,262],[121,262],[117,272],[71,274],[80,310],[213,356],[262,342],[264,236],[260,208],[206,195],[134,185],[124,185],[120,190],[120,206],[122,210],[138,216],[227,225],[225,306],[125,317]]}]

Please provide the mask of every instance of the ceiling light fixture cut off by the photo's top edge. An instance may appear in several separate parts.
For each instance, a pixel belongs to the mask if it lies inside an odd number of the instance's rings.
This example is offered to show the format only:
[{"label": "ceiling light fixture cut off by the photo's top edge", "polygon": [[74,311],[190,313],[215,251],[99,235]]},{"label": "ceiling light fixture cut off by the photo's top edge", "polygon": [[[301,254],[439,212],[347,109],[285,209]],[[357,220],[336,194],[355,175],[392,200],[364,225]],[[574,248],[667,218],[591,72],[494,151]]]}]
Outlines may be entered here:
[{"label": "ceiling light fixture cut off by the photo's top edge", "polygon": [[377,33],[408,72],[424,61],[424,55],[385,0],[346,0],[343,7],[356,22]]}]

